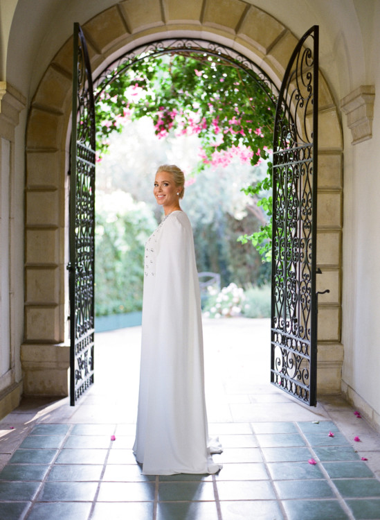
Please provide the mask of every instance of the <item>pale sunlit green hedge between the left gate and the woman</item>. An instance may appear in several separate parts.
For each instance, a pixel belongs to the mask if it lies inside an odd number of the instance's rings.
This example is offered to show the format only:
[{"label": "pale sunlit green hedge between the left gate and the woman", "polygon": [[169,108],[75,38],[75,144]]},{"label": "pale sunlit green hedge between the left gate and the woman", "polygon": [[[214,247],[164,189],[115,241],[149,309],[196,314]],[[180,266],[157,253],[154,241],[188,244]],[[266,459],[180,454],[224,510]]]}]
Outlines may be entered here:
[{"label": "pale sunlit green hedge between the left gate and the woman", "polygon": [[145,242],[155,227],[152,212],[128,193],[97,193],[97,316],[141,310]]}]

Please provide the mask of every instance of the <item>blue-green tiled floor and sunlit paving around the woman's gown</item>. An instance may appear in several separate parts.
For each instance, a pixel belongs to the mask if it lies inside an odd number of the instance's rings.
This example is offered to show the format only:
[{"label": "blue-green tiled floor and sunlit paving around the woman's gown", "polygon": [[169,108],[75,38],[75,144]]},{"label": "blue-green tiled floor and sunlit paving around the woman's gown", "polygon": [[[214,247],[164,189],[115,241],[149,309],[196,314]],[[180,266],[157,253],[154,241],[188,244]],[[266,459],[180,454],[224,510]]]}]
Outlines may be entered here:
[{"label": "blue-green tiled floor and sunlit paving around the woman's gown", "polygon": [[219,474],[141,475],[140,331],[101,333],[98,380],[80,406],[30,399],[0,422],[0,519],[380,519],[380,435],[340,397],[310,409],[266,383],[266,320],[229,326],[204,331]]}]

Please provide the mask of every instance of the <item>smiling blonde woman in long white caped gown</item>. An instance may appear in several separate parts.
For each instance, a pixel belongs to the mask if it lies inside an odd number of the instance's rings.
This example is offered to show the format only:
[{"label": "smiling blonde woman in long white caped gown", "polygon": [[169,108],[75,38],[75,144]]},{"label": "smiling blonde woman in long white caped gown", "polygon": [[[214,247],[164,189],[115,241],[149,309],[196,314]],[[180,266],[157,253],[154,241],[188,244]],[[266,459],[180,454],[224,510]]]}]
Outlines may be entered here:
[{"label": "smiling blonde woman in long white caped gown", "polygon": [[154,196],[165,217],[145,248],[143,332],[134,454],[143,474],[216,473],[208,440],[203,335],[192,227],[181,211],[185,179],[160,166]]}]

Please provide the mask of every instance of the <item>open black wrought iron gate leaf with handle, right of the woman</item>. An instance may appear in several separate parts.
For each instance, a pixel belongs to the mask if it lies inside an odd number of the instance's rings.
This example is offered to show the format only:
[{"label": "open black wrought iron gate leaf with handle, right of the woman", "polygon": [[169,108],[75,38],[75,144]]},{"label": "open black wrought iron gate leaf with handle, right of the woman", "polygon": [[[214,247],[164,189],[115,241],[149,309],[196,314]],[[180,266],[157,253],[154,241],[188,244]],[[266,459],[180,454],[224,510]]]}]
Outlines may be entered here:
[{"label": "open black wrought iron gate leaf with handle, right of the woman", "polygon": [[271,382],[316,405],[318,26],[293,51],[275,114]]}]

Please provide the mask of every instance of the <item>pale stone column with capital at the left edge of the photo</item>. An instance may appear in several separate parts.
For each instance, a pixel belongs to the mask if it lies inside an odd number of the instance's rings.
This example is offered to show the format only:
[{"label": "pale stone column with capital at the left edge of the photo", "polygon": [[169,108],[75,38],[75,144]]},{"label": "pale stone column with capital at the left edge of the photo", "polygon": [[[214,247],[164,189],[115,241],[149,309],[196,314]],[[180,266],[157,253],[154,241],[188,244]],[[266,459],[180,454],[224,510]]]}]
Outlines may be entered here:
[{"label": "pale stone column with capital at the left edge of the photo", "polygon": [[22,309],[22,275],[17,263],[23,254],[17,226],[22,222],[22,208],[16,193],[15,128],[25,104],[17,89],[0,82],[0,418],[19,404],[22,393],[17,342],[18,311]]}]

